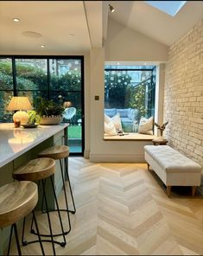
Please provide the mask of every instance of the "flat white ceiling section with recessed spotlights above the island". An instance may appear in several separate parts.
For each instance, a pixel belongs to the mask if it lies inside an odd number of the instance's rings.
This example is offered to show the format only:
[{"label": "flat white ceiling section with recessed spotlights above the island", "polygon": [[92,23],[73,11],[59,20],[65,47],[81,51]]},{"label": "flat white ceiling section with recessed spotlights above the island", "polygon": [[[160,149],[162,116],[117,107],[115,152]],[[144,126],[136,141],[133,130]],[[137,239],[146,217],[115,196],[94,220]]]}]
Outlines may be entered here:
[{"label": "flat white ceiling section with recessed spotlights above the island", "polygon": [[[14,17],[21,21],[13,22]],[[40,33],[41,37],[22,35],[24,31]],[[83,1],[0,1],[1,54],[39,51],[68,54],[90,48]]]}]

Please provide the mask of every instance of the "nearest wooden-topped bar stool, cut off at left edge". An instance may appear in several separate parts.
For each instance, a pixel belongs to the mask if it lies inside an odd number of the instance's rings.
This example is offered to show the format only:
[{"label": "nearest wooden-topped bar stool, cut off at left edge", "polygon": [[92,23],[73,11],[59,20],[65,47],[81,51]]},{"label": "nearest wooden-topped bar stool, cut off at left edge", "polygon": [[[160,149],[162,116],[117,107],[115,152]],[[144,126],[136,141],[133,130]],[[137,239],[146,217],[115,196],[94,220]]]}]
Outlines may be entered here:
[{"label": "nearest wooden-topped bar stool, cut off at left edge", "polygon": [[8,255],[10,254],[13,229],[16,237],[18,254],[22,255],[16,222],[22,220],[22,218],[31,212],[35,220],[35,227],[41,246],[41,253],[42,255],[45,255],[34,212],[37,202],[38,191],[37,185],[34,182],[12,182],[0,188],[0,227],[3,228],[11,225]]}]

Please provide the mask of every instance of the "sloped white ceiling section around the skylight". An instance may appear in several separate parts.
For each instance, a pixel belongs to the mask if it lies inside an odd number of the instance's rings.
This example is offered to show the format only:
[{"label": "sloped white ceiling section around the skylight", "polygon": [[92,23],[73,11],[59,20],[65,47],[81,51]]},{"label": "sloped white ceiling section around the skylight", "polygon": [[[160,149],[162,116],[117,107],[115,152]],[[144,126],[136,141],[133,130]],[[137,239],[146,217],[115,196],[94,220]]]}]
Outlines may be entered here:
[{"label": "sloped white ceiling section around the skylight", "polygon": [[203,18],[203,1],[187,1],[176,16],[143,1],[111,1],[111,19],[170,46]]}]

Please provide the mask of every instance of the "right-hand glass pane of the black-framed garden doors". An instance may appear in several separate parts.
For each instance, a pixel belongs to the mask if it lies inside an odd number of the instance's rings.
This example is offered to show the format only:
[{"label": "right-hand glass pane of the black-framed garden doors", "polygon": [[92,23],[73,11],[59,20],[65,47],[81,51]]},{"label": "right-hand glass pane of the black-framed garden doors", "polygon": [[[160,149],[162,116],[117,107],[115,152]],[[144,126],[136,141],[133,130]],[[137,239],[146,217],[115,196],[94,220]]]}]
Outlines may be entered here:
[{"label": "right-hand glass pane of the black-framed garden doors", "polygon": [[68,144],[70,152],[81,152],[82,138],[82,80],[81,60],[50,59],[50,98],[57,100],[61,95],[64,101],[71,102],[72,115],[67,115]]}]

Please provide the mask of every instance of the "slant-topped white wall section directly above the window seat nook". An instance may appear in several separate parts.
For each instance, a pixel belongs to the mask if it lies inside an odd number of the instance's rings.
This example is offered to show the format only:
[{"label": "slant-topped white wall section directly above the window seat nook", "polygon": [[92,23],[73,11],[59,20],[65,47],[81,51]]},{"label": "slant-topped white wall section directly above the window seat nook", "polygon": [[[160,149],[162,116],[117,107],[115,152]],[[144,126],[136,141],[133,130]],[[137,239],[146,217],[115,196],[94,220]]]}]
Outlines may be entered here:
[{"label": "slant-topped white wall section directly above the window seat nook", "polygon": [[105,61],[167,61],[168,46],[109,20]]}]

